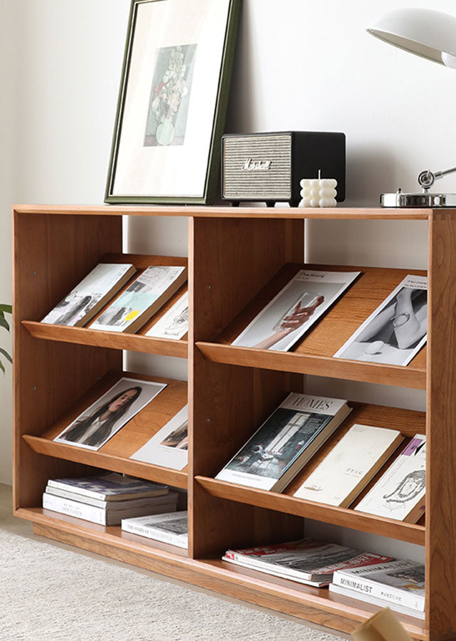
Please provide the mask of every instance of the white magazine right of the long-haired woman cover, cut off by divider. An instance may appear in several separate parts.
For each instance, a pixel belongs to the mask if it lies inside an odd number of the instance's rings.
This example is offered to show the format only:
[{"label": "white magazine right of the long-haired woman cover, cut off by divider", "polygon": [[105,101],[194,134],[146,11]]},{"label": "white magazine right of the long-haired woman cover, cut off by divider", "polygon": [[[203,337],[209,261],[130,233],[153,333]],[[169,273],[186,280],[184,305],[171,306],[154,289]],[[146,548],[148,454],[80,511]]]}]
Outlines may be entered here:
[{"label": "white magazine right of the long-haired woman cover, cut off by divider", "polygon": [[171,469],[184,469],[189,459],[188,450],[189,406],[186,405],[130,459]]}]

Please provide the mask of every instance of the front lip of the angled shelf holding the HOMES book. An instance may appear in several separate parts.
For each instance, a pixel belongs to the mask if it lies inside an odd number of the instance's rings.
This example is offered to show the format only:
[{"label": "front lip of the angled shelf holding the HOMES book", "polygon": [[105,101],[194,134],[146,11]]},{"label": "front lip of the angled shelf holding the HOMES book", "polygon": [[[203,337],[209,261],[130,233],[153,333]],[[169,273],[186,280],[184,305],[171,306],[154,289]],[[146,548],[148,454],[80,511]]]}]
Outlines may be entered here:
[{"label": "front lip of the angled shelf holding the HOMES book", "polygon": [[383,518],[346,508],[297,499],[295,496],[245,487],[206,476],[196,476],[195,480],[203,486],[208,494],[217,496],[220,499],[238,501],[285,512],[286,514],[312,518],[315,521],[332,523],[344,528],[379,534],[388,538],[396,538],[400,541],[408,541],[408,543],[415,543],[420,546],[425,544],[425,526],[403,523],[403,521],[395,521],[393,518]]}]

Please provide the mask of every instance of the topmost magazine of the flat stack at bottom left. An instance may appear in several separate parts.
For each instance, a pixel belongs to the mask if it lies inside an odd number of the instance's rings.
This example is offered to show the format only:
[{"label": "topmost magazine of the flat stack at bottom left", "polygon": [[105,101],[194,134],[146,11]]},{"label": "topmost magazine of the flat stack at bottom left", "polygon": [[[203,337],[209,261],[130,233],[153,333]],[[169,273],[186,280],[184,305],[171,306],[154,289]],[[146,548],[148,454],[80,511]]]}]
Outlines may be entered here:
[{"label": "topmost magazine of the flat stack at bottom left", "polygon": [[90,496],[100,501],[124,501],[124,499],[139,499],[144,496],[161,496],[168,494],[169,491],[167,485],[134,479],[132,476],[122,476],[117,472],[100,474],[100,476],[81,476],[76,479],[49,479],[48,486],[66,489],[80,496]]}]

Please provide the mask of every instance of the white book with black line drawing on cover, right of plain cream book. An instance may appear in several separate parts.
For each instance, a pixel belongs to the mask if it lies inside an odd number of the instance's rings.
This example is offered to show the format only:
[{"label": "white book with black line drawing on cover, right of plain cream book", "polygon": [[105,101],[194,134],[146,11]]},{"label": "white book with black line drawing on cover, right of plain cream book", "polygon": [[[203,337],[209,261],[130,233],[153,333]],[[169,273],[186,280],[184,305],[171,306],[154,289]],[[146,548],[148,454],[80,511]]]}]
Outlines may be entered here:
[{"label": "white book with black line drawing on cover, right of plain cream book", "polygon": [[426,437],[415,434],[355,510],[416,523],[425,511]]}]

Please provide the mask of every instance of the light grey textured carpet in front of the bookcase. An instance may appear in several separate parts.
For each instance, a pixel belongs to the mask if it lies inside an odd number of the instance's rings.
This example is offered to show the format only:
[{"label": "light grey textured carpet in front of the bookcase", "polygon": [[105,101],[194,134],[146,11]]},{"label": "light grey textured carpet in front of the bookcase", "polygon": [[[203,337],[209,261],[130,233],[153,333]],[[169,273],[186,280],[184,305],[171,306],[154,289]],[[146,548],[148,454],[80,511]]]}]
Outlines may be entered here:
[{"label": "light grey textured carpet in front of the bookcase", "polygon": [[262,608],[31,533],[0,486],[1,641],[337,641]]}]

